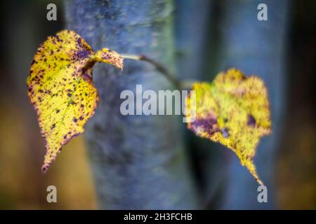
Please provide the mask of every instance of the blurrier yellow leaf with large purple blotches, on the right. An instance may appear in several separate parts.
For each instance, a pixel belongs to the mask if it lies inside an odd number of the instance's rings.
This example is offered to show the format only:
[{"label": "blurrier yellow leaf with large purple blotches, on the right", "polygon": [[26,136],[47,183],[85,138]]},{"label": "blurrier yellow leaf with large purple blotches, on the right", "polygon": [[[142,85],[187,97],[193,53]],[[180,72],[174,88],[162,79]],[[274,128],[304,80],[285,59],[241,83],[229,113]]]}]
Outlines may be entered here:
[{"label": "blurrier yellow leaf with large purple blotches, on the right", "polygon": [[[219,73],[213,83],[194,83],[195,121],[187,127],[199,137],[219,142],[234,151],[259,184],[253,162],[258,141],[271,133],[268,94],[263,80],[247,78],[237,69]],[[187,105],[190,106],[190,95]],[[187,119],[192,113],[187,109]]]}]

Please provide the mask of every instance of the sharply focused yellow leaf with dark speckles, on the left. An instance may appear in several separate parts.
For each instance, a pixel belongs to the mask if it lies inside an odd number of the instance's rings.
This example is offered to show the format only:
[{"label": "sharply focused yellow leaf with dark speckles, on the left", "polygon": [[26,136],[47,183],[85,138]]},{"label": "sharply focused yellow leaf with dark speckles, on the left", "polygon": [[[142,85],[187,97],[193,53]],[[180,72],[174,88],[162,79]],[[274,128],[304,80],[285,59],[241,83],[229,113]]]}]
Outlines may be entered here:
[{"label": "sharply focused yellow leaf with dark speckles, on the left", "polygon": [[63,145],[84,132],[84,125],[98,106],[92,83],[96,62],[123,69],[123,58],[107,48],[96,53],[74,31],[49,36],[34,56],[27,87],[46,140],[42,171],[46,172]]}]

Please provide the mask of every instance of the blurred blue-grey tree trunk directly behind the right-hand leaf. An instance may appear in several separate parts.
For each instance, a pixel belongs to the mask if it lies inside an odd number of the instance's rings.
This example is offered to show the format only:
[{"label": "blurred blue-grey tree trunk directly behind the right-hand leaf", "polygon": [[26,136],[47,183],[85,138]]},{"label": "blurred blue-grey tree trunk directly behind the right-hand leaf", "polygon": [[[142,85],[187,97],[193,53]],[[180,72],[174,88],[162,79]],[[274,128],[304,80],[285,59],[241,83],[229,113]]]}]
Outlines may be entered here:
[{"label": "blurred blue-grey tree trunk directly behind the right-hand leaf", "polygon": [[[255,164],[258,175],[268,187],[268,203],[258,203],[254,178],[232,155],[223,209],[273,209],[275,207],[275,153],[282,132],[284,111],[285,58],[288,9],[290,1],[223,1],[223,23],[219,69],[241,69],[246,75],[256,74],[268,87],[272,135],[258,146]],[[268,6],[268,21],[257,19],[257,6]],[[227,150],[223,148],[223,150]],[[231,153],[232,154],[232,153]],[[225,167],[227,165],[224,165]]]}]

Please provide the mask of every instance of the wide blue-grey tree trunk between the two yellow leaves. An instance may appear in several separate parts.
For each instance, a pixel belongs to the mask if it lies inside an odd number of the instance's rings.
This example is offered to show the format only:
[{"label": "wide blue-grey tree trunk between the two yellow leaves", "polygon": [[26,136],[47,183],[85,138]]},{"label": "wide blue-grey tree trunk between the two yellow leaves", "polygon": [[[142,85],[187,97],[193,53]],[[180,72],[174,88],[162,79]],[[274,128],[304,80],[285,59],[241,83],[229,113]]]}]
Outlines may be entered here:
[{"label": "wide blue-grey tree trunk between the two yellow leaves", "polygon": [[[67,28],[93,50],[146,54],[174,66],[173,3],[65,1]],[[93,80],[100,103],[86,125],[86,140],[102,209],[197,209],[183,147],[180,117],[122,116],[122,90],[166,90],[171,84],[150,64],[125,60],[124,72],[97,65]],[[136,95],[136,93],[135,93]]]}]

